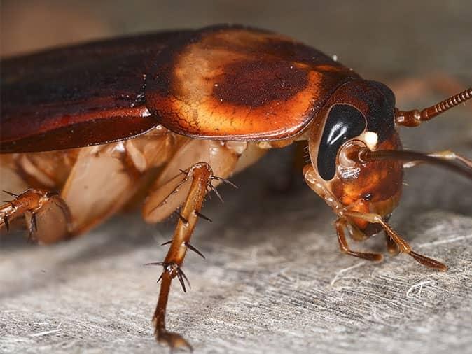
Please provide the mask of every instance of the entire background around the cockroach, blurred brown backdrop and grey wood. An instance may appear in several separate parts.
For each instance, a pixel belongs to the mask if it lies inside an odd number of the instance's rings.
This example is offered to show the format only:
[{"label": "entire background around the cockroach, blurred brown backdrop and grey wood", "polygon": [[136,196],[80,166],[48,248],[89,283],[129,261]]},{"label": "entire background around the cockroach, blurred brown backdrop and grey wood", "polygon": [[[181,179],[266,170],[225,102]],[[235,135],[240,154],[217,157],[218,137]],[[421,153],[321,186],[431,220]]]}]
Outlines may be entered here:
[{"label": "entire background around the cockroach, blurred brown backdrop and grey wood", "polygon": [[[337,55],[361,76],[390,85],[406,109],[471,86],[471,19],[468,0],[1,0],[0,52],[247,24]],[[468,104],[401,129],[404,146],[471,157],[471,112]],[[188,257],[193,289],[184,295],[173,288],[169,327],[198,353],[470,353],[471,182],[434,167],[408,171],[392,218],[449,272],[436,274],[408,257],[364,264],[339,253],[334,215],[301,174],[293,189],[279,191],[293,178],[291,153],[271,151],[236,176],[240,190],[222,188],[224,208],[207,203],[214,222],[200,222],[194,236],[207,260]],[[172,228],[118,215],[48,248],[0,239],[0,352],[167,353],[155,346],[150,323],[158,271],[142,264],[165,255],[156,245]],[[381,238],[369,242],[360,248],[384,250]]]}]

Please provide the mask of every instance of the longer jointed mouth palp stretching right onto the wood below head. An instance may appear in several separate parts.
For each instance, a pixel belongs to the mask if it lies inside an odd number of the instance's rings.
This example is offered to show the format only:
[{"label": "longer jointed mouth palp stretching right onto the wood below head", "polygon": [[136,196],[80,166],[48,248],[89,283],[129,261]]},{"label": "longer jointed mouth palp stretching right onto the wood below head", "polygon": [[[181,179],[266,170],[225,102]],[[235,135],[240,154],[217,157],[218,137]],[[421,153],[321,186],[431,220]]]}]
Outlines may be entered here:
[{"label": "longer jointed mouth palp stretching right onto the wood below head", "polygon": [[392,229],[391,226],[387,224],[387,222],[385,222],[380,215],[373,213],[360,213],[358,211],[342,211],[341,215],[348,218],[366,220],[373,224],[382,225],[384,231],[388,234],[391,240],[396,243],[396,246],[398,246],[398,249],[401,252],[407,253],[408,255],[412,256],[417,262],[423,264],[426,267],[438,269],[440,271],[447,270],[447,266],[445,264],[438,262],[437,260],[433,260],[432,258],[426,257],[424,255],[420,255],[419,253],[413,251],[408,242],[405,241],[405,239],[403,239],[403,237],[401,237],[399,234],[397,234],[397,232]]}]

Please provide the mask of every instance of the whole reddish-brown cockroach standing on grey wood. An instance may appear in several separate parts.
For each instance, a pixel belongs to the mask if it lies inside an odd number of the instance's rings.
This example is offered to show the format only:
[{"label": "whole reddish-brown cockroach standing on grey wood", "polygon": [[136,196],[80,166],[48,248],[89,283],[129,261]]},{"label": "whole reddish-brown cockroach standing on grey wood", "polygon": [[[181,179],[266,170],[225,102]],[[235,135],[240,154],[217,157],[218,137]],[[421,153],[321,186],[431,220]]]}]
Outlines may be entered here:
[{"label": "whole reddish-brown cockroach standing on grey wood", "polygon": [[[160,274],[155,337],[190,347],[165,326],[172,279],[205,196],[270,148],[307,141],[307,185],[333,209],[343,253],[385,233],[391,253],[426,267],[389,224],[403,167],[439,164],[472,179],[472,161],[450,151],[403,150],[398,127],[417,127],[472,97],[472,88],[400,111],[382,83],[291,38],[219,25],[96,41],[1,62],[0,206],[8,230],[25,220],[29,238],[52,243],[83,234],[138,197],[146,222],[179,218]],[[60,191],[60,192],[55,192]],[[166,243],[167,244],[167,243]]]}]

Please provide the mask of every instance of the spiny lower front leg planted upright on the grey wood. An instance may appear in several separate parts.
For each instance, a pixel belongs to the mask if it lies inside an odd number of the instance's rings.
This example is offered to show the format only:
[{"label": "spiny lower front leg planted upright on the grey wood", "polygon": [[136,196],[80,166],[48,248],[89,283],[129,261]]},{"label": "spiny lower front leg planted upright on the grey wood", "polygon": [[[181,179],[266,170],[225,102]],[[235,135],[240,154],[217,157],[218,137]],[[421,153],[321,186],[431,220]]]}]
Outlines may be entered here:
[{"label": "spiny lower front leg planted upright on the grey wood", "polygon": [[[209,186],[214,176],[211,167],[205,162],[194,164],[193,167],[186,171],[186,174],[191,178],[190,190],[181,208],[181,218],[177,221],[169,252],[164,262],[160,263],[162,264],[163,271],[160,277],[160,293],[158,305],[153,316],[153,323],[155,325],[155,336],[158,341],[167,343],[171,348],[187,347],[191,351],[192,347],[180,334],[167,331],[165,328],[165,312],[172,279],[177,277],[183,291],[186,291],[185,281],[188,283],[188,279],[183,273],[181,266],[187,250],[194,250],[203,257],[200,251],[190,245],[190,236],[193,229],[195,229],[199,215],[201,215],[200,209],[207,194],[207,189],[211,189]],[[188,285],[190,284],[188,283]]]}]

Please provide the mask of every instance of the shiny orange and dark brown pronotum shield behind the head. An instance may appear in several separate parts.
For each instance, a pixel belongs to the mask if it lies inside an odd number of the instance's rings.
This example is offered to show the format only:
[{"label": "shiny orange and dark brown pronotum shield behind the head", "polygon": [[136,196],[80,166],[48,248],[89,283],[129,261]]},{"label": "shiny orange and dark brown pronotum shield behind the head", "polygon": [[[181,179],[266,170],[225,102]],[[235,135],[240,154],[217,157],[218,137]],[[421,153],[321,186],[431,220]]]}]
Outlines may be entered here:
[{"label": "shiny orange and dark brown pronotum shield behind the head", "polygon": [[179,134],[278,140],[300,132],[337,87],[358,77],[290,38],[209,27],[158,55],[146,77],[146,106]]}]

